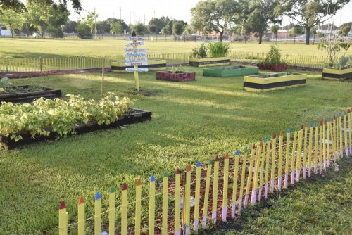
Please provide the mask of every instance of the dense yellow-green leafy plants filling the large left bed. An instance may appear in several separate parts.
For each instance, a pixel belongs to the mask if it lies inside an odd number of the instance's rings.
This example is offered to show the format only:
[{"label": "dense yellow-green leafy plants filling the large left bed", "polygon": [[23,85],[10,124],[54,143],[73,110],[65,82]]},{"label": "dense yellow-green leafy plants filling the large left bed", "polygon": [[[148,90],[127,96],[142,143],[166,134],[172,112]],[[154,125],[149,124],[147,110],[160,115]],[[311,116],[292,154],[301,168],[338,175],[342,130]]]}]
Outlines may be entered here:
[{"label": "dense yellow-green leafy plants filling the large left bed", "polygon": [[100,102],[84,100],[68,94],[68,100],[36,99],[33,103],[2,102],[0,106],[0,136],[10,136],[18,141],[22,134],[49,136],[75,134],[80,123],[96,121],[109,125],[130,110],[130,99],[120,99],[109,93]]}]

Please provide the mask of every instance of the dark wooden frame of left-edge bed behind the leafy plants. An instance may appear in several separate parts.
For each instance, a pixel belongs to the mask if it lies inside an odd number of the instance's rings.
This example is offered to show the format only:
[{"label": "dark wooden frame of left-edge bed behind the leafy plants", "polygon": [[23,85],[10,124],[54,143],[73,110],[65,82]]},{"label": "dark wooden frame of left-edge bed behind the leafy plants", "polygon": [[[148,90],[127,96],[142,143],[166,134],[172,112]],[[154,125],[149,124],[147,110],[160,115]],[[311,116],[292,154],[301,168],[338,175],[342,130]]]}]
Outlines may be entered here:
[{"label": "dark wooden frame of left-edge bed behind the leafy plants", "polygon": [[[30,85],[23,85],[23,86],[17,86],[17,87],[28,88],[30,87]],[[0,94],[0,102],[2,101],[30,102],[40,97],[44,97],[46,99],[54,99],[54,98],[61,97],[61,90],[51,89],[48,87],[41,87],[41,88],[42,88],[42,91],[33,91],[33,92],[25,92],[25,93],[17,93],[17,94]]]}]

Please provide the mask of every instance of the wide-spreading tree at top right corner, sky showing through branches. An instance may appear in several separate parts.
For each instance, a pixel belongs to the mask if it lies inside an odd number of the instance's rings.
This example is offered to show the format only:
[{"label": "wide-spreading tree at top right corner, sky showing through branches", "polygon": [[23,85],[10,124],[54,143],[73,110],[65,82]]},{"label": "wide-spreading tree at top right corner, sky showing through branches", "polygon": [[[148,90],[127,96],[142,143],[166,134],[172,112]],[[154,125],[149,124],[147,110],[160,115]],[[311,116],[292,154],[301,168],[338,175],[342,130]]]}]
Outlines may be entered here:
[{"label": "wide-spreading tree at top right corner, sky showing through branches", "polygon": [[351,0],[280,0],[280,12],[296,21],[306,30],[306,45],[309,45],[310,29],[329,20]]}]

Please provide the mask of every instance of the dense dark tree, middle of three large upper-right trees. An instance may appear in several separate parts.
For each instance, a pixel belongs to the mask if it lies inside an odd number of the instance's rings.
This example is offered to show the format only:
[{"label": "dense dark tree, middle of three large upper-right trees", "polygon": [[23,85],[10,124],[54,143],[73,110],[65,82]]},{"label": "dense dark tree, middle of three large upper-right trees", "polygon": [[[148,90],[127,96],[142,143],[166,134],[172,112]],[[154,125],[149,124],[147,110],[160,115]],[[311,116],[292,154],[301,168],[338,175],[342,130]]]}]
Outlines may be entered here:
[{"label": "dense dark tree, middle of three large upper-right trees", "polygon": [[281,23],[277,8],[277,0],[246,0],[243,3],[243,13],[246,18],[246,28],[251,32],[258,32],[259,44],[262,44],[263,34],[270,23]]}]

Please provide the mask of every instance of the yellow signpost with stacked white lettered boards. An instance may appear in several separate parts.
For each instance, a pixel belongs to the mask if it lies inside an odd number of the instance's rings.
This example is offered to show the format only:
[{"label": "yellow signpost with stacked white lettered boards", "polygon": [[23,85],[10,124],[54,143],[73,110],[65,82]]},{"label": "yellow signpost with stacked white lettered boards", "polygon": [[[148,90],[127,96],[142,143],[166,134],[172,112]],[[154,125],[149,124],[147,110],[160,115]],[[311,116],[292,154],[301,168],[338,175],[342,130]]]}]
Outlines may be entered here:
[{"label": "yellow signpost with stacked white lettered boards", "polygon": [[[148,65],[146,49],[137,49],[137,46],[144,45],[144,37],[128,36],[126,39],[132,40],[132,43],[126,44],[127,48],[125,49],[126,72],[134,72],[135,89],[139,91],[138,72],[148,72],[148,68],[138,68],[138,66]],[[130,47],[132,47],[132,49]],[[133,66],[133,68],[127,68],[131,66]]]}]

